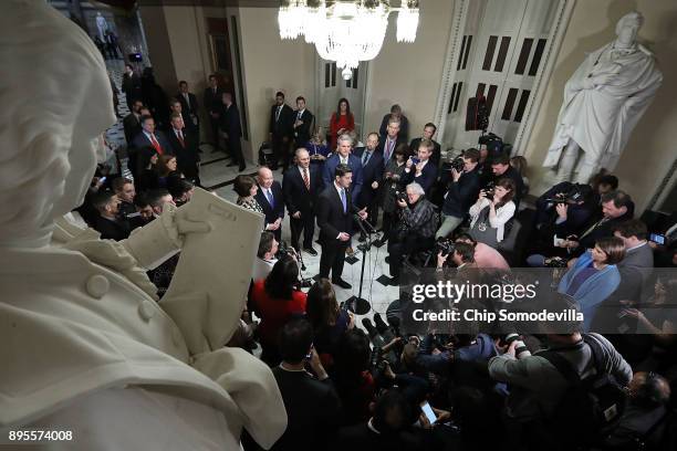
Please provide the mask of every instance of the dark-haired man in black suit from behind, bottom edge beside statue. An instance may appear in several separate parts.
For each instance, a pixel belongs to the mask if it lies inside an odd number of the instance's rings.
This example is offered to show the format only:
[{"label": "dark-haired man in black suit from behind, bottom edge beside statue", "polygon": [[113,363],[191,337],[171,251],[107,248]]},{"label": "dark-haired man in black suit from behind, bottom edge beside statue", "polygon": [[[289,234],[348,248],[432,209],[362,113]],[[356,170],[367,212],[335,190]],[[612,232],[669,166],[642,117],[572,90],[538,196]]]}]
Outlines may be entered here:
[{"label": "dark-haired man in black suit from behind, bottom edge beside statue", "polygon": [[[284,400],[287,430],[271,451],[325,450],[341,420],[338,396],[313,348],[313,329],[308,319],[293,319],[280,334],[282,363],[273,376]],[[311,354],[310,360],[306,355]],[[316,378],[304,370],[309,364]]]}]

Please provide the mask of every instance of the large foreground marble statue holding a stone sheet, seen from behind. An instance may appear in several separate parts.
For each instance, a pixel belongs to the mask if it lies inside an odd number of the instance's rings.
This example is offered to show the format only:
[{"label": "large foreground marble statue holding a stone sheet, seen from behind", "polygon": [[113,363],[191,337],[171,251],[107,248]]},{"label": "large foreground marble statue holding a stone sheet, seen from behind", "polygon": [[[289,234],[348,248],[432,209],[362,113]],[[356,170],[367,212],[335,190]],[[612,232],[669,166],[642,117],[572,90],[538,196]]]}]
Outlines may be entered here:
[{"label": "large foreground marble statue holding a stone sheet, seen from behind", "polygon": [[[127,240],[70,220],[115,122],[101,53],[42,1],[0,17],[0,437],[35,449],[268,449],[287,427],[271,370],[230,339],[262,217],[199,190]],[[17,57],[17,55],[20,55]],[[146,271],[181,250],[158,304]]]}]

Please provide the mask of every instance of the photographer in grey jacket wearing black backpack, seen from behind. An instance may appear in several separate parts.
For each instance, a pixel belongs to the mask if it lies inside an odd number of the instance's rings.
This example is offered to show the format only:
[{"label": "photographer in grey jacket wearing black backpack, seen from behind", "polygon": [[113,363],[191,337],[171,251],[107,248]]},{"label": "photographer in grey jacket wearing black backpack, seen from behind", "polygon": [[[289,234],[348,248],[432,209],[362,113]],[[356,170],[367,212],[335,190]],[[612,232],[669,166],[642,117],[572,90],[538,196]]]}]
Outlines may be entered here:
[{"label": "photographer in grey jacket wearing black backpack, seen from behind", "polygon": [[[556,296],[548,307],[555,312],[575,305],[565,296]],[[538,449],[576,449],[589,439],[587,433],[601,427],[587,390],[621,394],[618,389],[627,386],[633,371],[602,335],[582,334],[580,323],[546,322],[541,328],[545,350],[531,354],[522,340],[514,339],[506,343],[502,355],[489,360],[489,376],[509,385],[506,420],[512,424],[507,439],[525,440]],[[600,400],[604,409],[612,409],[604,412],[607,421],[622,413],[621,405],[613,409],[615,399]],[[605,401],[612,405],[605,406]]]}]

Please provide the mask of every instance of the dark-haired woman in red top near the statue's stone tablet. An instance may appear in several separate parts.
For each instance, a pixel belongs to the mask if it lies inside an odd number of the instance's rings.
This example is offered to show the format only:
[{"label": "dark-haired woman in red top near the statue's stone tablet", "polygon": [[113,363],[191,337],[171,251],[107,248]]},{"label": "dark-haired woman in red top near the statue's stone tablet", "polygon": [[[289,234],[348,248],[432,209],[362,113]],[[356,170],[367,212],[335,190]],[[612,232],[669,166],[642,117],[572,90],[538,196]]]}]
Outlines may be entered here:
[{"label": "dark-haired woman in red top near the statue's stone tablet", "polygon": [[270,366],[281,361],[278,335],[284,324],[305,314],[305,293],[295,289],[299,265],[291,256],[274,264],[268,277],[254,282],[251,289],[253,312],[261,318],[259,340],[263,353],[261,359]]}]

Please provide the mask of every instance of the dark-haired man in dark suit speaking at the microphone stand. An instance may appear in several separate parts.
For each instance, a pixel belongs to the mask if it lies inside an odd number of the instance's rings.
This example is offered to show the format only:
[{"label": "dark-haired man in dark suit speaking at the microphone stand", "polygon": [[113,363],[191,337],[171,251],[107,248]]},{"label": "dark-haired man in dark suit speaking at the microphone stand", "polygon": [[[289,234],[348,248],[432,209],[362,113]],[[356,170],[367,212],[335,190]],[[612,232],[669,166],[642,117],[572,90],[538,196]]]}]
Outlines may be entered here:
[{"label": "dark-haired man in dark suit speaking at the microphone stand", "polygon": [[[341,144],[340,144],[341,146]],[[345,250],[351,242],[353,232],[353,216],[367,218],[366,209],[357,210],[353,204],[351,182],[353,170],[348,165],[341,164],[334,170],[333,182],[324,188],[317,199],[317,226],[320,227],[320,277],[329,279],[332,272],[332,283],[344,290],[352,285],[341,279]]]}]

